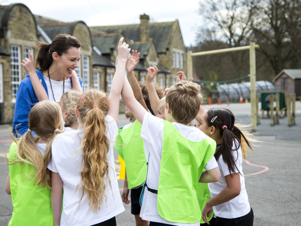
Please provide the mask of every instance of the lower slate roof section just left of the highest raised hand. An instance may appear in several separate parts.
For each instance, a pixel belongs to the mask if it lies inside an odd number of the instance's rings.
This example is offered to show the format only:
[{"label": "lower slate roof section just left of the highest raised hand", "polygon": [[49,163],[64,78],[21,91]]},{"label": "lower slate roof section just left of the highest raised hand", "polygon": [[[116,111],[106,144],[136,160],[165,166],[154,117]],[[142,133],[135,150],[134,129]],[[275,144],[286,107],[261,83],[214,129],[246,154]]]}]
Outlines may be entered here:
[{"label": "lower slate roof section just left of the highest raised hand", "polygon": [[115,49],[118,44],[120,32],[110,34],[95,34],[92,35],[92,43],[102,54],[110,54],[111,49]]}]

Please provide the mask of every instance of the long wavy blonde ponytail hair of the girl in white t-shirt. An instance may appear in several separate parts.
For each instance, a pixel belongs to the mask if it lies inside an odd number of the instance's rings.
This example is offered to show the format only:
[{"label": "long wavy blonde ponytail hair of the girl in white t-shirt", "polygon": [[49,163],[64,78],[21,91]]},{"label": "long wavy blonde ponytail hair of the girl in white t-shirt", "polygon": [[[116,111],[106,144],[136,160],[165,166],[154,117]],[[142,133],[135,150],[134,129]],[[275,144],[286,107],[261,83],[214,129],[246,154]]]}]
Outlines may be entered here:
[{"label": "long wavy blonde ponytail hair of the girl in white t-shirt", "polygon": [[78,100],[77,107],[85,132],[79,148],[82,150],[83,159],[81,181],[76,190],[80,187],[82,191],[79,205],[86,193],[89,206],[96,212],[100,210],[103,198],[106,201],[105,180],[109,182],[111,188],[110,178],[107,176],[110,167],[107,159],[110,141],[106,137],[105,116],[108,109],[106,94],[95,89],[87,90]]}]

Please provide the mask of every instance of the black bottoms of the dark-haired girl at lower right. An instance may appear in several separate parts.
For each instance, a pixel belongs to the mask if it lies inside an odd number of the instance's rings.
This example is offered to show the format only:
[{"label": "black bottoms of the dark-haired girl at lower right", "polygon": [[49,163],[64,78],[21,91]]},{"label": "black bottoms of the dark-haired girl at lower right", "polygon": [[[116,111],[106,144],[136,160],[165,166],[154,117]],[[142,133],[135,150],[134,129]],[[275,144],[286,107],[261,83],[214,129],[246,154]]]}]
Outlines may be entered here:
[{"label": "black bottoms of the dark-haired girl at lower right", "polygon": [[253,209],[251,208],[250,212],[244,216],[237,218],[222,218],[216,217],[215,226],[253,226],[254,214]]}]

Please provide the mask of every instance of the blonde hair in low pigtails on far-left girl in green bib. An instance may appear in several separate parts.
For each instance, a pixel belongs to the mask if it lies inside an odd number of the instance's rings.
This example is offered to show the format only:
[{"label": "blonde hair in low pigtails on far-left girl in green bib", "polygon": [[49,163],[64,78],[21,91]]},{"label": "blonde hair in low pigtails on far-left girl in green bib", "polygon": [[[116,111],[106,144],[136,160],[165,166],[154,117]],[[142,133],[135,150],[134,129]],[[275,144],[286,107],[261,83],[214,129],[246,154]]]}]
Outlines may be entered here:
[{"label": "blonde hair in low pigtails on far-left girl in green bib", "polygon": [[[62,123],[62,117],[60,114],[60,107],[57,103],[50,100],[44,100],[37,103],[29,112],[29,131],[27,131],[23,137],[18,139],[11,133],[12,138],[18,144],[17,156],[14,159],[10,159],[8,164],[14,165],[17,163],[28,163],[35,167],[36,171],[34,175],[28,175],[29,178],[36,178],[35,184],[41,184],[42,187],[48,185],[47,180],[47,165],[51,158],[49,142],[53,141],[54,137],[61,133],[55,132]],[[34,131],[39,137],[33,137]],[[40,138],[47,139],[45,158],[43,158],[40,150],[36,146],[36,142]],[[51,147],[51,144],[50,144]],[[50,157],[49,157],[50,155]],[[22,166],[22,165],[21,165]]]}]

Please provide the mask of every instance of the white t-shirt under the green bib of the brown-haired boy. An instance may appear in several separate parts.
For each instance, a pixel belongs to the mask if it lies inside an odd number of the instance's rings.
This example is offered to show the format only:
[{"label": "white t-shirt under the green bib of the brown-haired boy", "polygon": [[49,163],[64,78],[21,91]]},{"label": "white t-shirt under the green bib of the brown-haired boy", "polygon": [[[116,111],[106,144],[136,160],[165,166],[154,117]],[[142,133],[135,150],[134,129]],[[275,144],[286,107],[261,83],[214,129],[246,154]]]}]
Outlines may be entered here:
[{"label": "white t-shirt under the green bib of the brown-haired boy", "polygon": [[[200,142],[206,138],[206,135],[195,127],[188,127],[179,123],[173,123],[180,134],[193,142]],[[141,129],[141,138],[149,144],[149,162],[147,170],[146,184],[152,189],[158,190],[159,176],[161,166],[161,156],[163,148],[163,132],[164,122],[151,114],[145,114]],[[205,169],[211,170],[218,167],[214,157],[206,164]],[[171,222],[160,216],[157,208],[157,194],[149,192],[147,188],[144,190],[143,202],[140,211],[140,217],[143,220],[153,222],[167,223],[178,226],[200,226],[200,222],[196,223],[177,223]]]}]

